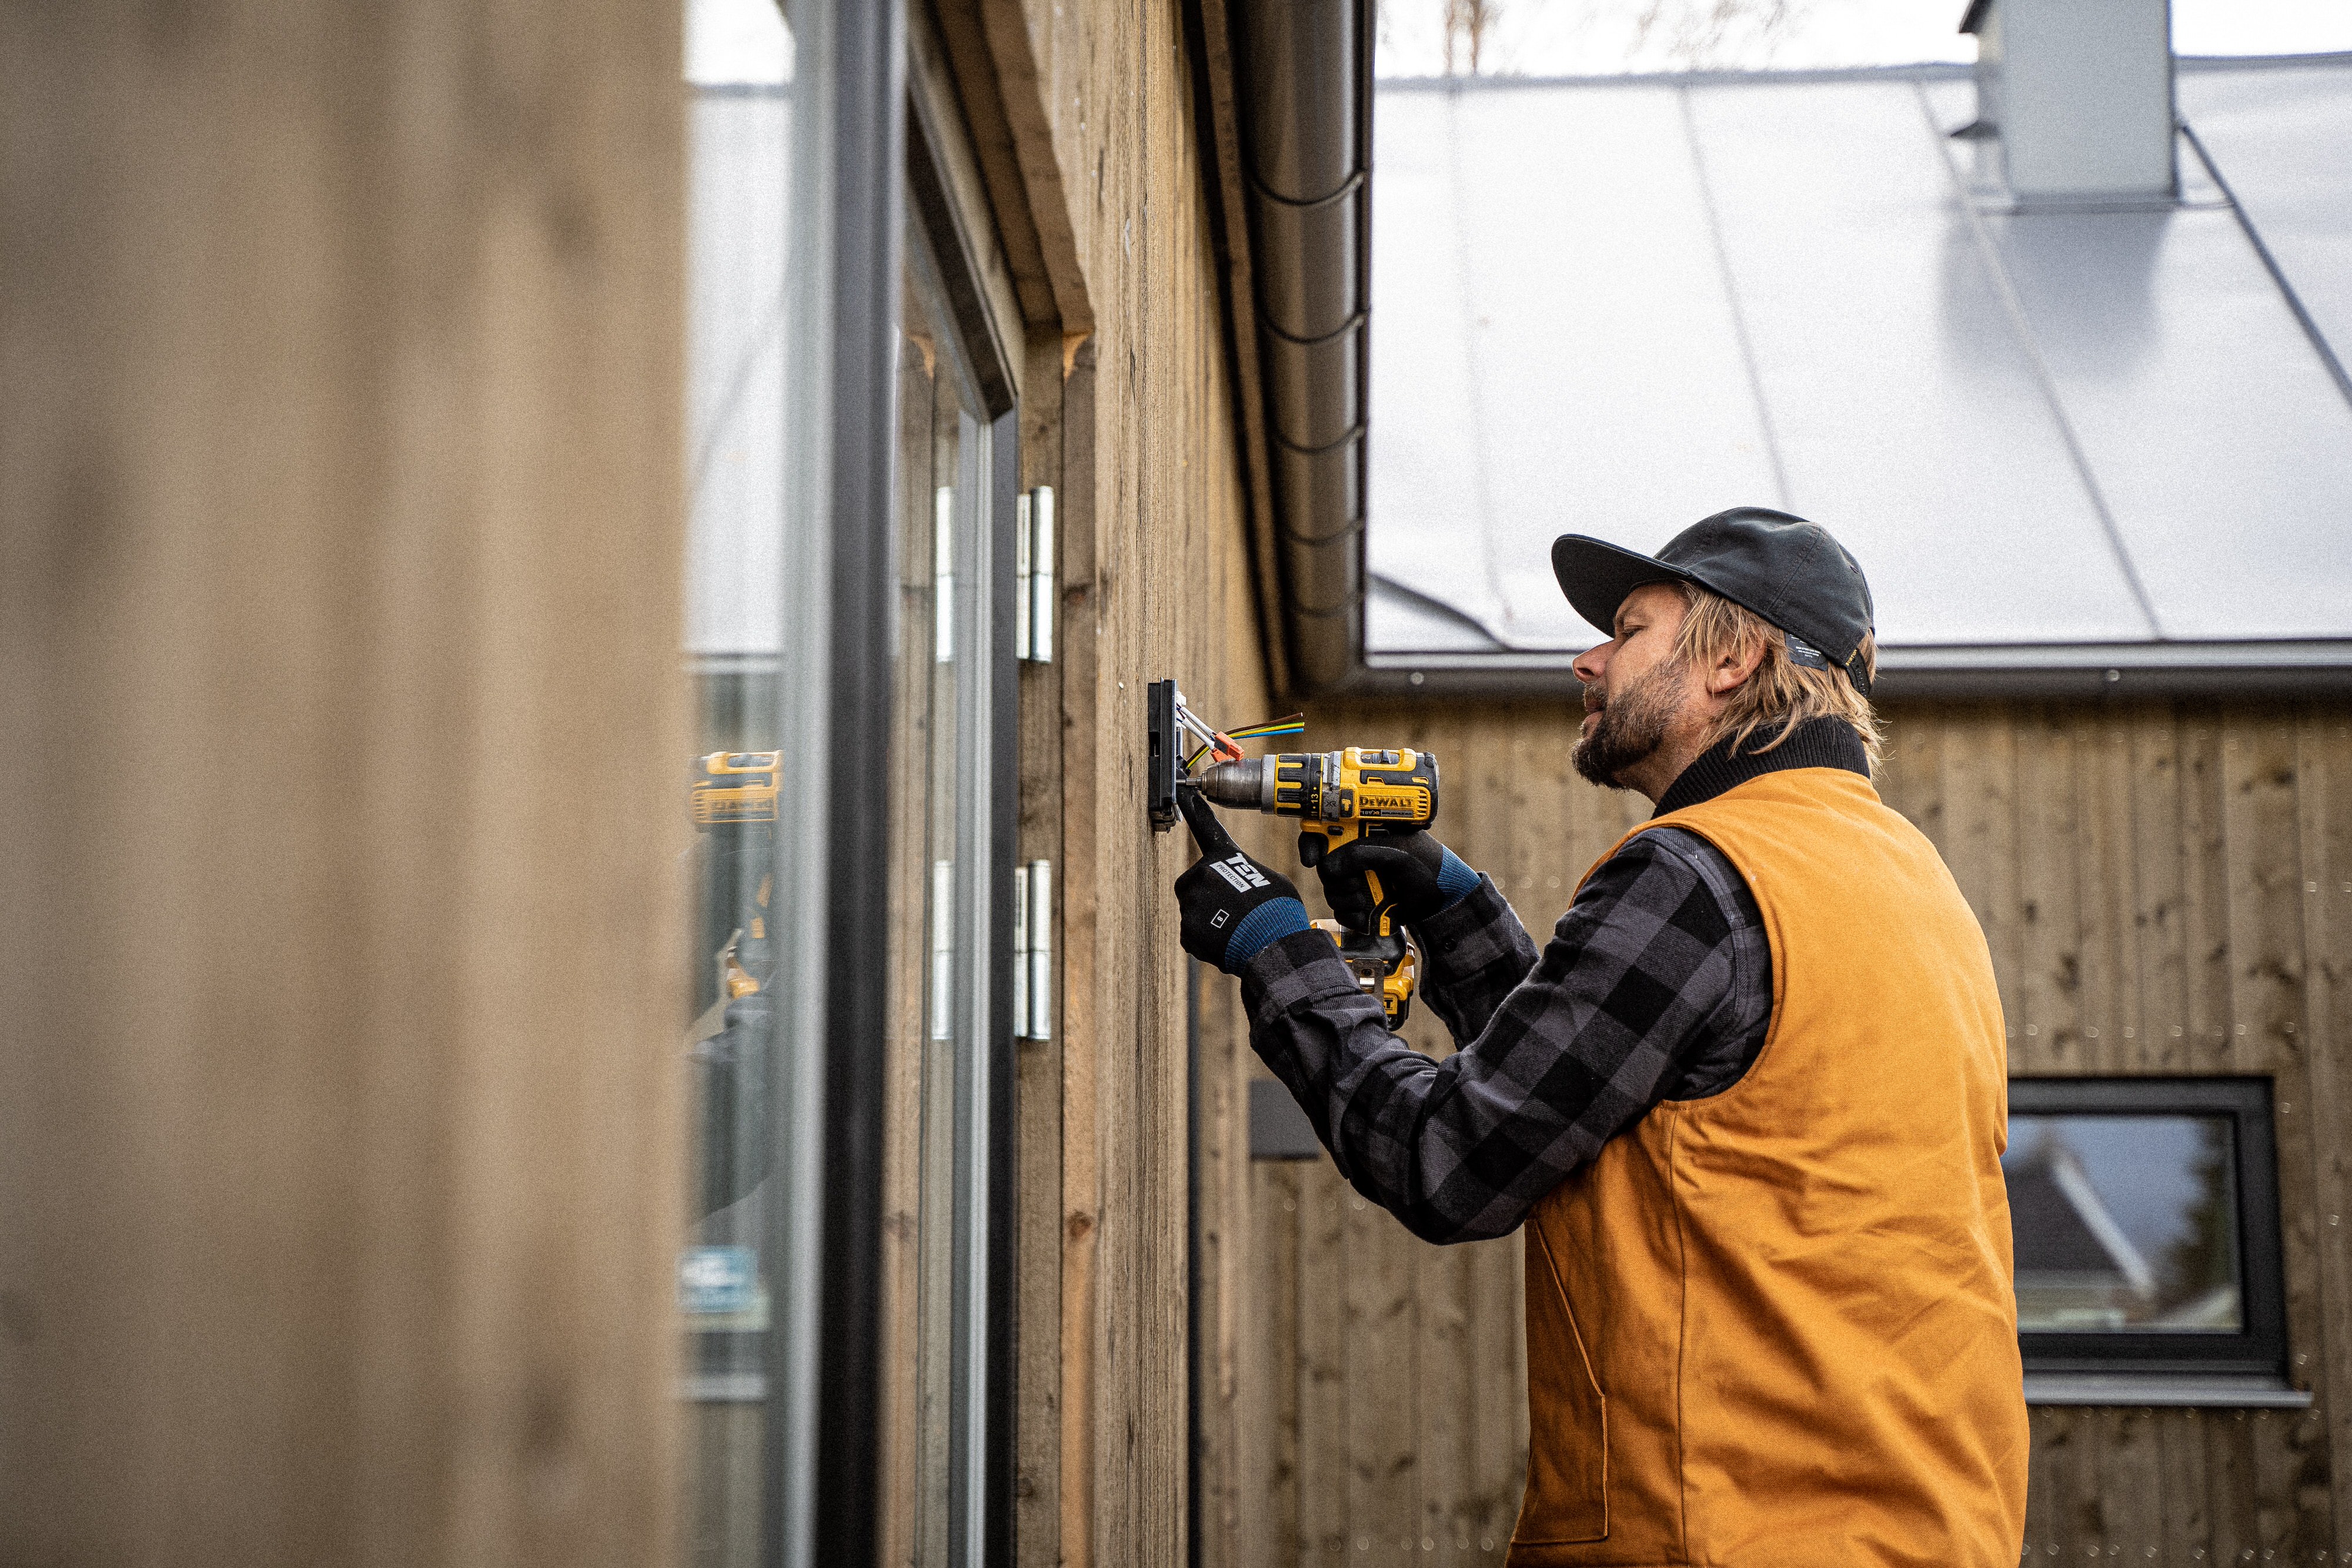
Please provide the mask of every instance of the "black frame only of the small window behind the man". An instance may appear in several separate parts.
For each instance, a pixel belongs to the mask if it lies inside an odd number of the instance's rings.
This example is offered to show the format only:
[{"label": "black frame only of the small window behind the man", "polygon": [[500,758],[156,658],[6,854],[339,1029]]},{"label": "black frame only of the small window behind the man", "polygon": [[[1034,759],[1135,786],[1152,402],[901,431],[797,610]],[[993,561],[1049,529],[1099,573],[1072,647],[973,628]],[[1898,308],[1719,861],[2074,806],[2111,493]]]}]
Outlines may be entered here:
[{"label": "black frame only of the small window behind the man", "polygon": [[2232,1335],[2018,1331],[2027,1378],[2136,1373],[2157,1378],[2286,1375],[2286,1272],[2279,1251],[2279,1154],[2267,1077],[2009,1079],[2011,1117],[2227,1117],[2237,1192],[2244,1328]]}]

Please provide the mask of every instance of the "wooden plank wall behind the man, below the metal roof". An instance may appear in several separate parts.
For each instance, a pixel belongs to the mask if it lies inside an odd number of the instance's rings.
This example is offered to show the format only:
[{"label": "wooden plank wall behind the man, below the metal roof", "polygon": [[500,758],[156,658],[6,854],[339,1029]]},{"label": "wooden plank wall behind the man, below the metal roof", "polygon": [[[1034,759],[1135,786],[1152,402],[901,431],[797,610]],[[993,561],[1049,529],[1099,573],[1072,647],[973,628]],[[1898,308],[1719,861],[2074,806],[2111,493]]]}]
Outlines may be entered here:
[{"label": "wooden plank wall behind the man, below the metal roof", "polygon": [[[2027,1561],[2352,1561],[2352,1476],[2333,1465],[2352,1410],[2352,708],[1889,719],[1879,790],[1985,924],[2013,1072],[2277,1091],[2288,1373],[2314,1408],[2037,1408]],[[1432,748],[1439,837],[1538,938],[1649,813],[1571,773],[1557,703],[1331,705],[1305,743]],[[1451,1048],[1432,1020],[1409,1039]],[[1211,1561],[1501,1561],[1526,1443],[1519,1241],[1423,1246],[1329,1161],[1247,1180],[1240,1528]]]}]

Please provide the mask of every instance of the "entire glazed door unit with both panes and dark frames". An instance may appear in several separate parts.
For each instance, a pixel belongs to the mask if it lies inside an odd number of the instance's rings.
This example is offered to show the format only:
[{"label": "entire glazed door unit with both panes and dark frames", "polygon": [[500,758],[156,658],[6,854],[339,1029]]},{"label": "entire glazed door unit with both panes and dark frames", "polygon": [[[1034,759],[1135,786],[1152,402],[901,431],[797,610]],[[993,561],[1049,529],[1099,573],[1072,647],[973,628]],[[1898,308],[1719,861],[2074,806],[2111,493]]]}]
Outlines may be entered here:
[{"label": "entire glazed door unit with both panes and dark frames", "polygon": [[920,101],[873,141],[896,7],[687,12],[687,1556],[1009,1563],[1018,421],[990,219],[948,200]]}]

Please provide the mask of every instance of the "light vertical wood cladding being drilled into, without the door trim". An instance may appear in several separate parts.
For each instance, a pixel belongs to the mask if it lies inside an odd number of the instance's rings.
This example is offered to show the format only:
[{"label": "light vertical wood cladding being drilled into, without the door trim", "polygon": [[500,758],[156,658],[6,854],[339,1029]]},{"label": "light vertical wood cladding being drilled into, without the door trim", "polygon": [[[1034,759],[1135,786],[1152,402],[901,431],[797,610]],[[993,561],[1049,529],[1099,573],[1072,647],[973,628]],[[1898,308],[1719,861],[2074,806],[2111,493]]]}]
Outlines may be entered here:
[{"label": "light vertical wood cladding being drilled into, without the door trim", "polygon": [[[1192,1126],[1169,889],[1192,842],[1150,832],[1143,813],[1143,689],[1176,677],[1225,724],[1263,717],[1268,698],[1181,16],[1068,12],[1098,33],[1087,52],[1051,54],[1047,80],[1084,73],[1058,101],[1084,103],[1082,205],[1108,216],[1075,223],[1096,334],[1063,381],[1061,750],[1033,752],[1058,783],[1065,1027],[1058,1126],[1023,1105],[1021,1204],[1061,1215],[1061,1389],[1049,1403],[1040,1382],[1023,1387],[1021,1455],[1030,1488],[1054,1460],[1061,1509],[1054,1526],[1035,1519],[1021,1561],[1174,1566],[1190,1467]],[[1025,708],[1049,701],[1042,686],[1023,684]],[[1033,818],[1023,832],[1044,844],[1054,827]],[[1047,1091],[1044,1063],[1023,1070],[1033,1086]],[[1044,1265],[1042,1232],[1023,1234],[1025,1262]],[[1023,1305],[1033,1298],[1042,1305],[1042,1291]],[[1025,1319],[1025,1368],[1037,1333]]]}]

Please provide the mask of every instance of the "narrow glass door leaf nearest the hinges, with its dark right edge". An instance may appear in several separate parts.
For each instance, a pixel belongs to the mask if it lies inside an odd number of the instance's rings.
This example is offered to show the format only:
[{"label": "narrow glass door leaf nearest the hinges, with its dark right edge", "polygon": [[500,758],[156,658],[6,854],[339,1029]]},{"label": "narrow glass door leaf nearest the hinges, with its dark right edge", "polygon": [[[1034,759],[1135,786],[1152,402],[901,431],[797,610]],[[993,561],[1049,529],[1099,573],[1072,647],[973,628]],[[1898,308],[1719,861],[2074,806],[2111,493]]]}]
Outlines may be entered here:
[{"label": "narrow glass door leaf nearest the hinges, with its dark right edge", "polygon": [[[1007,1561],[1011,1505],[1011,484],[948,308],[953,249],[908,230],[898,355],[903,846],[884,1559]],[[985,350],[981,350],[985,353]],[[1000,1542],[1000,1547],[990,1547]]]}]

